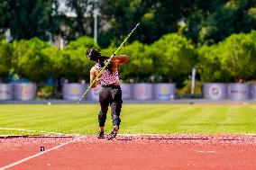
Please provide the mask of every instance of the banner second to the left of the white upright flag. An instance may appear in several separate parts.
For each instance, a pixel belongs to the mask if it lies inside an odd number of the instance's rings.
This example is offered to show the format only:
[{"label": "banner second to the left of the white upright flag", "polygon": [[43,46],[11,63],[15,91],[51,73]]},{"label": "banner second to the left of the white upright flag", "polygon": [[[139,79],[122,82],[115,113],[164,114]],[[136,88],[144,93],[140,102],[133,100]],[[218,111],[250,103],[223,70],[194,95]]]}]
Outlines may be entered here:
[{"label": "banner second to the left of the white upright flag", "polygon": [[150,100],[153,98],[152,84],[133,84],[133,99],[136,100]]}]

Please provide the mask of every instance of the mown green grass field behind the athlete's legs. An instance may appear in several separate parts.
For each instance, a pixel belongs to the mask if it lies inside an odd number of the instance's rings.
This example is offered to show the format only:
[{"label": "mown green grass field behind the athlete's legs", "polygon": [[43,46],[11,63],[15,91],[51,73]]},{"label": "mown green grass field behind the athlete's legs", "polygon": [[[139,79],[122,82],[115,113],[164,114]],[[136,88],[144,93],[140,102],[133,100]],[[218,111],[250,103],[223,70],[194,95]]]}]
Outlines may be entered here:
[{"label": "mown green grass field behind the athlete's legs", "polygon": [[[0,135],[37,135],[41,132],[95,134],[98,104],[0,105]],[[120,133],[256,133],[256,105],[123,104]],[[110,112],[106,130],[111,130]]]}]

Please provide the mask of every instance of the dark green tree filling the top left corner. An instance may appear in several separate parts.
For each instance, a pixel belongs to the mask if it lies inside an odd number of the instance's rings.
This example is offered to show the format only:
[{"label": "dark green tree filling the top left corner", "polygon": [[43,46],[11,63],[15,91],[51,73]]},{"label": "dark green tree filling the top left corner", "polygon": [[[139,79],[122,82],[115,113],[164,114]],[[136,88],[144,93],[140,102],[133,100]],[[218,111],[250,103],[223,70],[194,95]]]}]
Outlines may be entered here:
[{"label": "dark green tree filling the top left corner", "polygon": [[[57,0],[6,0],[0,3],[0,27],[10,28],[14,40],[39,37],[50,40],[59,34]],[[54,8],[56,7],[56,8]]]}]

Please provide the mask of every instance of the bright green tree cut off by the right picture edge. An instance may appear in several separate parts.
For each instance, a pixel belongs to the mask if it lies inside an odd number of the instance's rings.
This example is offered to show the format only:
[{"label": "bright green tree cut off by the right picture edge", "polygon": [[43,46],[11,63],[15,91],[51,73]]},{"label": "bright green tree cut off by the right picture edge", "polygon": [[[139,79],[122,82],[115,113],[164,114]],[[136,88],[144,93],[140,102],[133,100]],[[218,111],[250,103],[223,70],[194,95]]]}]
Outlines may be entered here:
[{"label": "bright green tree cut off by the right picture edge", "polygon": [[[255,33],[255,31],[253,31]],[[251,34],[253,34],[251,32]],[[226,70],[232,80],[238,77],[250,80],[256,76],[256,44],[251,34],[233,34],[221,43],[220,57],[223,69]]]}]

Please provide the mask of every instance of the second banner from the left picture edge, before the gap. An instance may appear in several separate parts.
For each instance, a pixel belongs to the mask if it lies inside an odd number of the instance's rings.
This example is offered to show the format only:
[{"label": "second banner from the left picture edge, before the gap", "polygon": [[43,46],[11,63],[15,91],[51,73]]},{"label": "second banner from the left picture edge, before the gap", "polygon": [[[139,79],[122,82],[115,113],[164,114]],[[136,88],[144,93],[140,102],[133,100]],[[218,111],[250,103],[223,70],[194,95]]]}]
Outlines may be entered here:
[{"label": "second banner from the left picture edge, before the gap", "polygon": [[36,85],[32,83],[14,84],[14,99],[21,101],[32,100],[35,97]]}]

